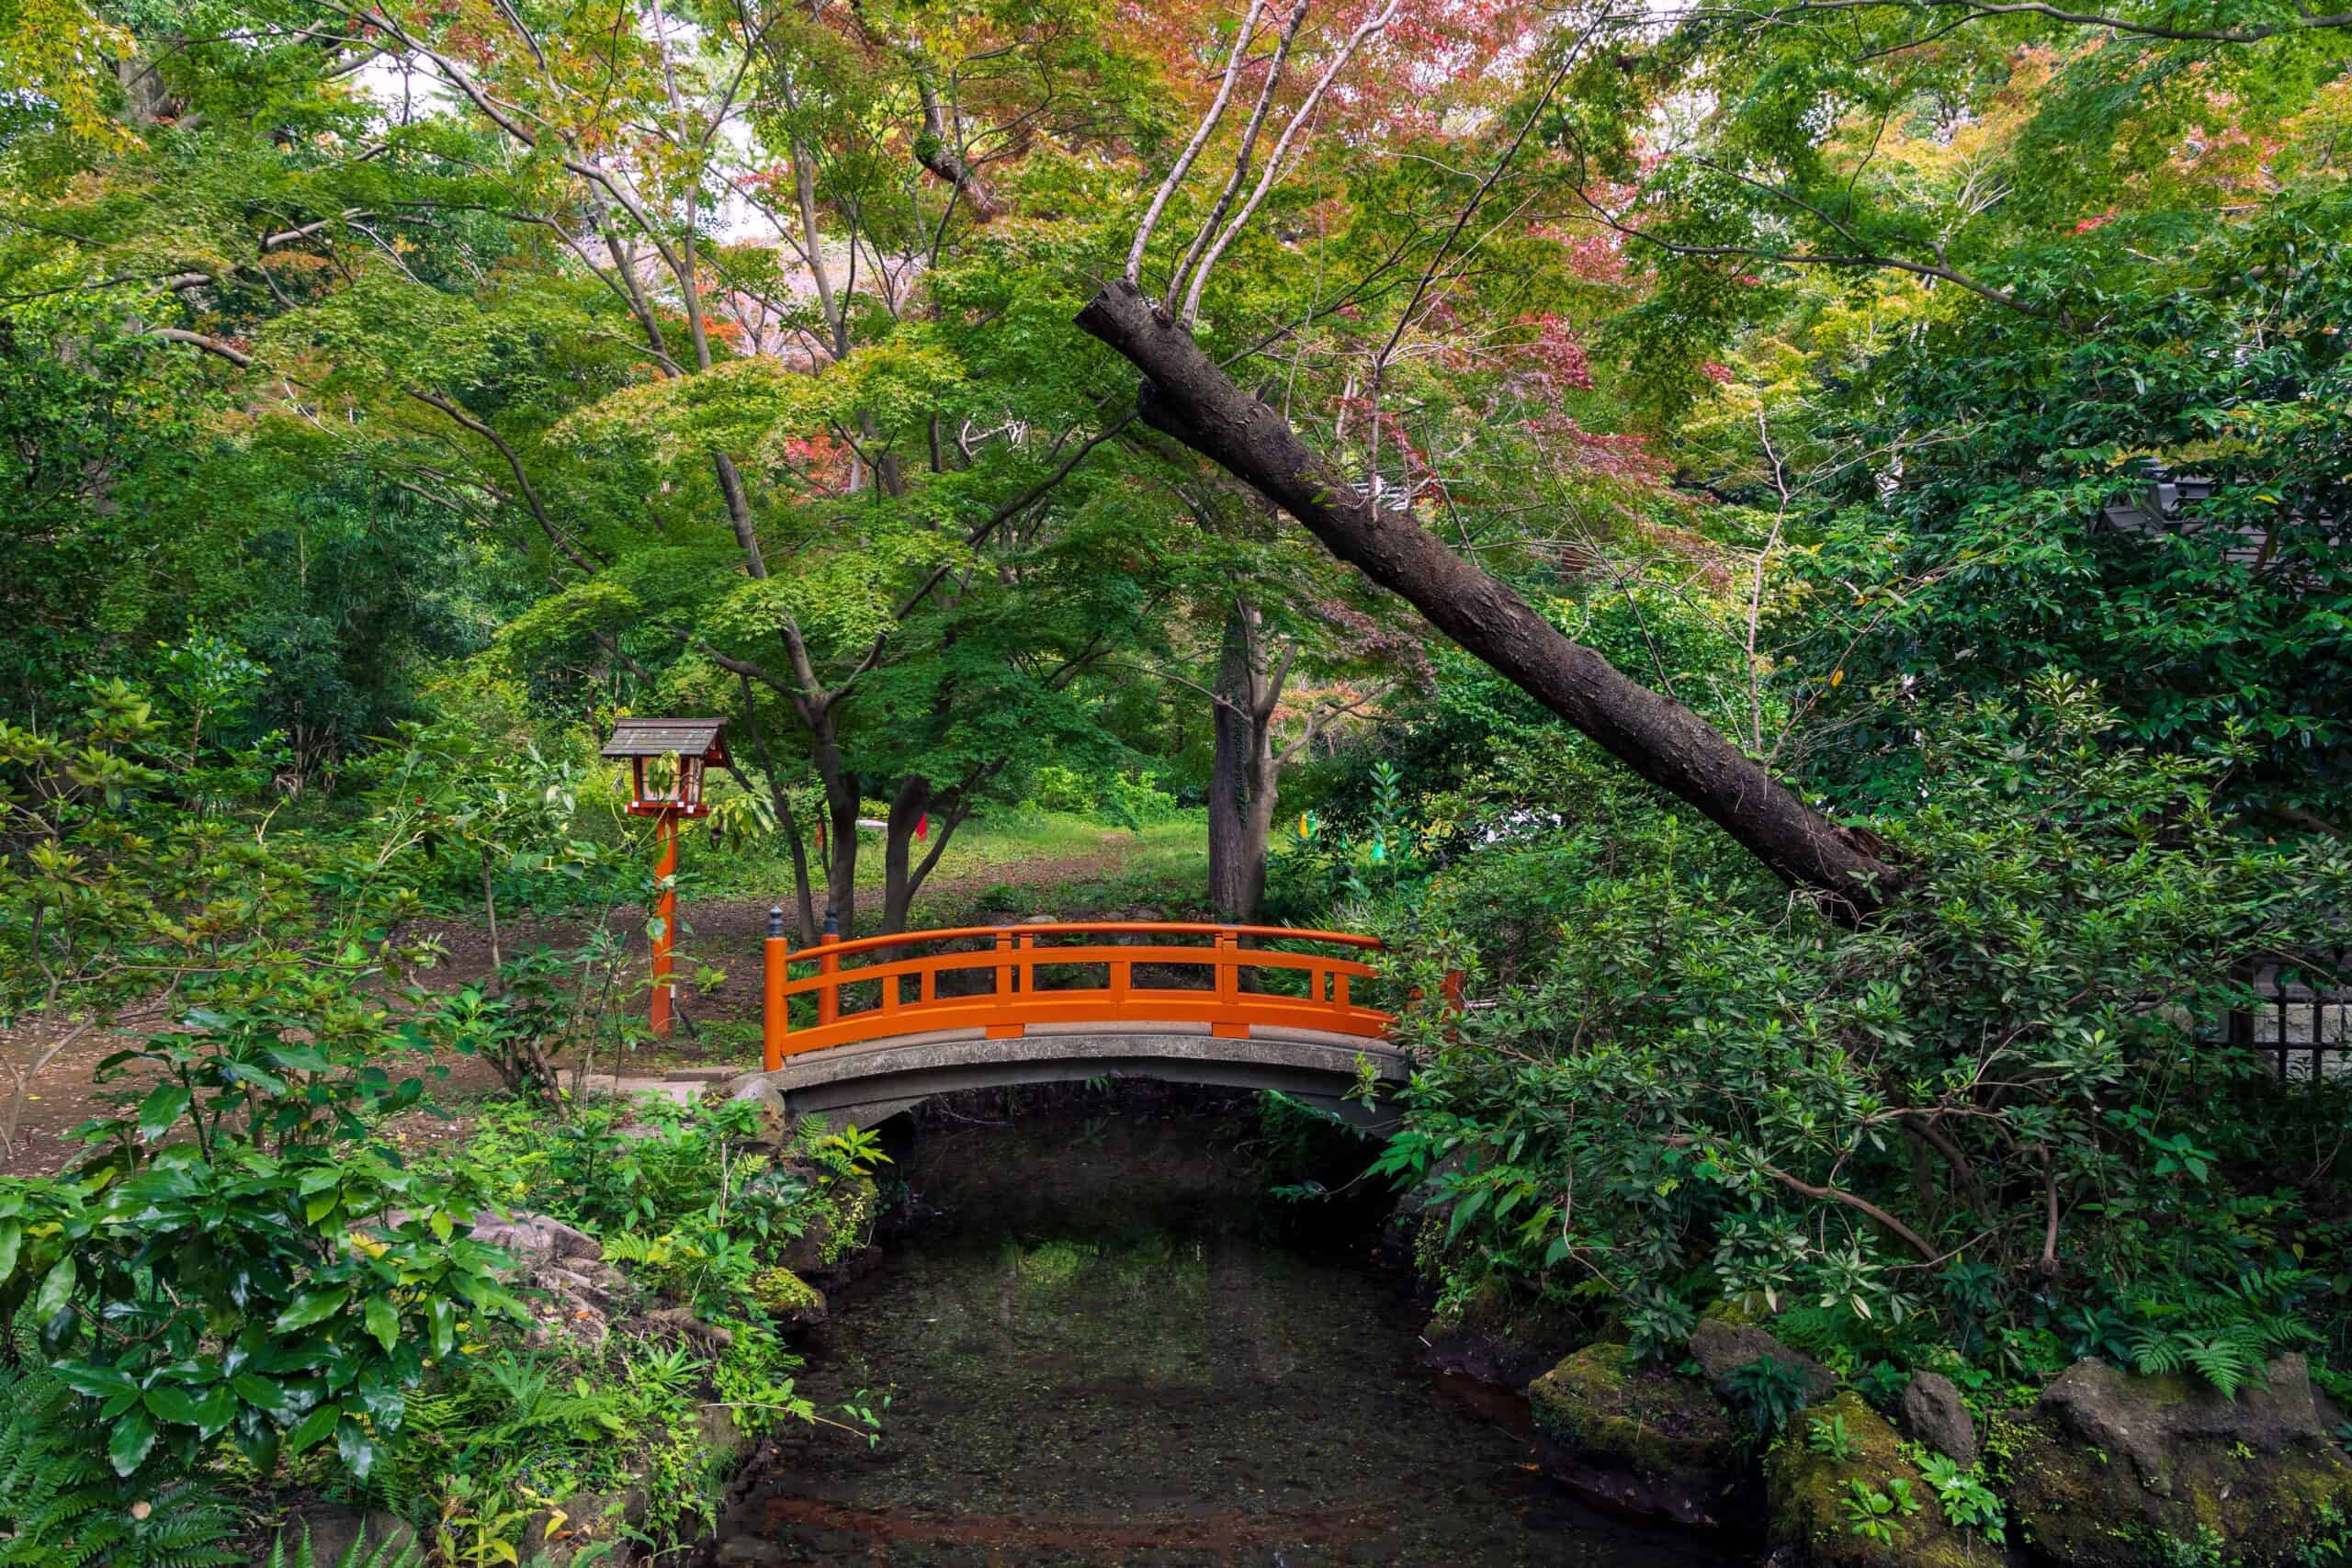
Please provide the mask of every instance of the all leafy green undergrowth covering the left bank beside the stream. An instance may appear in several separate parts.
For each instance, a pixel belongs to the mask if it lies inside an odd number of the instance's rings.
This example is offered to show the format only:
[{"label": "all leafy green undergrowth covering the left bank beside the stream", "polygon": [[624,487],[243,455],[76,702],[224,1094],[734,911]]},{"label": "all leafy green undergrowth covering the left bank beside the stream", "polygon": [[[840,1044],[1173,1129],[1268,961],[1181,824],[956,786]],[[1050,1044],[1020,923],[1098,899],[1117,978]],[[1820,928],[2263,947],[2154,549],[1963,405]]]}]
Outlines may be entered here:
[{"label": "all leafy green undergrowth covering the left bank beside the stream", "polygon": [[186,1100],[136,1107],[136,1168],[101,1140],[5,1197],[0,1253],[38,1284],[0,1366],[0,1563],[261,1561],[320,1502],[437,1563],[668,1549],[743,1439],[877,1425],[795,1392],[769,1314],[873,1222],[854,1131],[767,1150],[741,1103],[501,1100],[405,1164],[355,1095],[343,1133],[270,1145]]}]

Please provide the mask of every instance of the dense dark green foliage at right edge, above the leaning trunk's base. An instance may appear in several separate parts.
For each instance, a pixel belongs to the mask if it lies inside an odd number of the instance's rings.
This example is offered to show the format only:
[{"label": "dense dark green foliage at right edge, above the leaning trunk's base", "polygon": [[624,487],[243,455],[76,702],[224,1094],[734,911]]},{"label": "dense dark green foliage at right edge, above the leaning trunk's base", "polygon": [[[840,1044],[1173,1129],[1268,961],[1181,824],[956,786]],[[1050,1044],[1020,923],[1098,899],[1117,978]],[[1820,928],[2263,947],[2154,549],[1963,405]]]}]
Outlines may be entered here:
[{"label": "dense dark green foliage at right edge, above the leaning trunk's base", "polygon": [[[2046,665],[2098,682],[2136,745],[2227,752],[2232,806],[2291,830],[2352,818],[2352,360],[2333,327],[2352,193],[2331,179],[2211,221],[2157,219],[2157,242],[2103,226],[2180,273],[2112,249],[2131,263],[2098,334],[1964,310],[1889,336],[1837,390],[1820,435],[1900,449],[1903,482],[1839,465],[1790,557],[1783,679],[1818,703],[1820,788],[1905,809],[1917,712]],[[2145,505],[2150,463],[2206,484],[2173,517],[2105,527],[2107,505]]]}]

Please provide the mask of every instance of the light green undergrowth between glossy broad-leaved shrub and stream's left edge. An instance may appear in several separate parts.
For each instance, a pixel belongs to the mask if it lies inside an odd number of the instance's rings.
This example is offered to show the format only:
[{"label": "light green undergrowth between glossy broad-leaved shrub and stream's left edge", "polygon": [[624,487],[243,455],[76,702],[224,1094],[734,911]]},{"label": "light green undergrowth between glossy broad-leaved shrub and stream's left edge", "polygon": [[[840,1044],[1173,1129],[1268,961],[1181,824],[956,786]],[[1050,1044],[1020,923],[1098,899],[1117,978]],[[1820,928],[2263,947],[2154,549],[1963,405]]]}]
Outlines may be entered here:
[{"label": "light green undergrowth between glossy broad-leaved shrub and stream's left edge", "polygon": [[[555,1312],[461,1345],[409,1396],[393,1462],[329,1488],[430,1526],[456,1563],[506,1561],[541,1537],[691,1540],[739,1458],[731,1439],[830,1420],[793,1387],[800,1359],[769,1316],[771,1276],[800,1253],[835,1262],[873,1218],[870,1143],[807,1124],[767,1152],[753,1135],[741,1103],[485,1107],[454,1161],[506,1208],[579,1227],[602,1260],[536,1269]],[[572,1279],[586,1286],[567,1293]]]}]

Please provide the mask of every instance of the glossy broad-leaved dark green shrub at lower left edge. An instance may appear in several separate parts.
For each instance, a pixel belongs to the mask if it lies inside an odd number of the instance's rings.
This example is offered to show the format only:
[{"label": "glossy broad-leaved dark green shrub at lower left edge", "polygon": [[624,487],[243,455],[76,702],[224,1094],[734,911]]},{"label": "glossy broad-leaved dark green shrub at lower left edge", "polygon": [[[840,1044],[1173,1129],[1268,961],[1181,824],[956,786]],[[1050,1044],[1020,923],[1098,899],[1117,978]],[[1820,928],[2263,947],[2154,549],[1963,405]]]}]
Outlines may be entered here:
[{"label": "glossy broad-leaved dark green shrub at lower left edge", "polygon": [[522,1316],[461,1234],[480,1175],[414,1171],[376,1131],[421,1079],[390,1079],[353,994],[313,976],[303,1001],[216,994],[118,1053],[155,1086],[85,1128],[71,1175],[0,1187],[0,1309],[31,1307],[122,1476],[223,1434],[263,1472],[332,1439],[365,1476],[459,1324]]}]

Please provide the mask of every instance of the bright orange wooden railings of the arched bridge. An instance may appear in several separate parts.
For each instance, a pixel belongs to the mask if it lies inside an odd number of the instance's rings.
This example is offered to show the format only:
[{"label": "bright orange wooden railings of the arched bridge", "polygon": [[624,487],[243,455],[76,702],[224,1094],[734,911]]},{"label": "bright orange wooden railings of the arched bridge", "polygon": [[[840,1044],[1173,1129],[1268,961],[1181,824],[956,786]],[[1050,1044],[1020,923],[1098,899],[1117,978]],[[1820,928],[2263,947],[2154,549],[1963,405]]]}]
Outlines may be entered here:
[{"label": "bright orange wooden railings of the arched bridge", "polygon": [[[1185,922],[1094,919],[1037,922],[1028,926],[957,926],[906,931],[901,936],[826,936],[816,947],[790,950],[779,936],[781,914],[767,938],[767,1065],[786,1056],[842,1046],[858,1039],[917,1034],[924,1030],[981,1027],[988,1039],[1011,1039],[1040,1023],[1207,1023],[1211,1034],[1247,1039],[1251,1025],[1322,1030],[1378,1039],[1390,1016],[1355,1001],[1350,985],[1371,980],[1362,959],[1334,952],[1279,952],[1242,947],[1256,943],[1308,943],[1345,952],[1378,952],[1381,940],[1350,931],[1291,931],[1289,926],[1211,926]],[[1094,938],[1049,945],[1049,938]],[[1110,940],[1124,938],[1124,940]],[[971,943],[924,957],[887,957],[903,947]],[[863,959],[851,964],[851,959]],[[795,964],[816,973],[793,978]],[[1101,987],[1037,987],[1037,971],[1068,966],[1101,969]],[[1136,969],[1207,969],[1209,987],[1136,985]],[[988,990],[943,994],[941,976],[983,971]],[[1244,971],[1291,971],[1305,976],[1305,994],[1244,990]],[[913,983],[913,994],[908,994]],[[873,1006],[842,1009],[844,987],[873,987]],[[816,1025],[793,1027],[793,997],[816,997]]]}]

